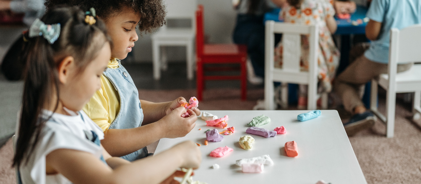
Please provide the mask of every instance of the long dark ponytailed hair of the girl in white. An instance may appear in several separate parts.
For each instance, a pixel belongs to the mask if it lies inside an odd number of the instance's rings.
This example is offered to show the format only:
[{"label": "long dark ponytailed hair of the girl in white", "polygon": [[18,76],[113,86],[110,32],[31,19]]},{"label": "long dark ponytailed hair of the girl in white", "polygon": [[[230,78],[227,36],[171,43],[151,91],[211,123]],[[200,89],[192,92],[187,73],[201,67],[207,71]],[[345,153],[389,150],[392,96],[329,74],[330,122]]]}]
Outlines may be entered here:
[{"label": "long dark ponytailed hair of the girl in white", "polygon": [[[67,56],[74,58],[75,64],[83,71],[107,42],[105,24],[98,18],[93,25],[85,22],[85,13],[77,7],[56,7],[41,18],[46,25],[60,24],[58,40],[50,44],[43,36],[27,37],[23,59],[26,63],[25,84],[22,98],[22,112],[13,165],[20,167],[40,140],[46,121],[43,109],[59,102],[59,79],[56,68]],[[55,97],[53,97],[55,94]],[[55,104],[52,104],[56,100]]]}]

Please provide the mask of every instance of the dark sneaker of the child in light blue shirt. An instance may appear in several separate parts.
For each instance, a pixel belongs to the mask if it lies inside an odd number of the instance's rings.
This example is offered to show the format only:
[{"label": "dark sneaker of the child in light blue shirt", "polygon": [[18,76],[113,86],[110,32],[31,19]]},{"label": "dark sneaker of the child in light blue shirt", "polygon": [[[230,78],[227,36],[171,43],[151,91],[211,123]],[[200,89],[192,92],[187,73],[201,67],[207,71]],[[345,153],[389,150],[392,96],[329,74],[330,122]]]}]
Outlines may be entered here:
[{"label": "dark sneaker of the child in light blue shirt", "polygon": [[343,128],[348,136],[353,136],[361,130],[365,130],[374,126],[374,114],[370,111],[355,114],[350,121],[343,124]]}]

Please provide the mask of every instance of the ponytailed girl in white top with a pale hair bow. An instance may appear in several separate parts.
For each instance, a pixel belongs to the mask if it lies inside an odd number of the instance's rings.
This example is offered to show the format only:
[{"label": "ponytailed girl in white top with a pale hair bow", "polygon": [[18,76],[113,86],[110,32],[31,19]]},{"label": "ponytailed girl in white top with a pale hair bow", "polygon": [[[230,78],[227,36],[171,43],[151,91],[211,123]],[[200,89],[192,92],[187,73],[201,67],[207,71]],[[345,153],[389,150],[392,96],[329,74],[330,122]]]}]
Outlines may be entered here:
[{"label": "ponytailed girl in white top with a pale hair bow", "polygon": [[[81,110],[100,89],[111,57],[111,39],[93,12],[53,8],[26,34],[27,71],[13,159],[23,183],[170,183],[183,174],[176,172],[179,167],[198,168],[201,155],[193,142],[132,163],[111,157],[101,146],[104,133]],[[169,116],[184,119],[184,112],[180,107]],[[187,119],[197,118],[187,112]]]}]

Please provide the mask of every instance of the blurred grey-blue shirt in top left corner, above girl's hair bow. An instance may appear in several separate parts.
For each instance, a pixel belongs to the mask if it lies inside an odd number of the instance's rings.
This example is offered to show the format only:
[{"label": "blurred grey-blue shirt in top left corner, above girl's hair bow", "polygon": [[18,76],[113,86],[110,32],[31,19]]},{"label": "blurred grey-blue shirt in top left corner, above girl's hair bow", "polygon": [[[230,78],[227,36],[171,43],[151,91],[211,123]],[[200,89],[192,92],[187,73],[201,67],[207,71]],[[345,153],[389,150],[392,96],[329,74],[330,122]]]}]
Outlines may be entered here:
[{"label": "blurred grey-blue shirt in top left corner, above girl's hair bow", "polygon": [[31,26],[36,18],[44,15],[44,0],[14,0],[10,2],[10,10],[14,13],[25,13],[23,21],[27,26]]}]

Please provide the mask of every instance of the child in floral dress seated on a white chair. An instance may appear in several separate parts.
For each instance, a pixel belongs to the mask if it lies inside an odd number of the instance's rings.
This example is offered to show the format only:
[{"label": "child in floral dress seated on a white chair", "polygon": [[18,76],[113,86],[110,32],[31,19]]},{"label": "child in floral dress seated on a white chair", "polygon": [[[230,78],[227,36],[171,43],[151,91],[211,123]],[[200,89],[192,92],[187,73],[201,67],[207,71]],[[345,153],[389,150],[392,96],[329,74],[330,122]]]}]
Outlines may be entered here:
[{"label": "child in floral dress seated on a white chair", "polygon": [[[280,0],[285,1],[285,0]],[[339,64],[339,50],[332,39],[336,31],[336,21],[333,18],[335,10],[327,0],[287,0],[280,17],[285,22],[301,25],[317,25],[319,27],[319,47],[317,59],[319,66],[319,92],[329,93],[332,90],[332,80]],[[282,41],[275,49],[275,67],[282,67]],[[306,35],[301,35],[300,70],[309,71],[309,40]],[[307,85],[299,85],[298,108],[307,108]]]}]

